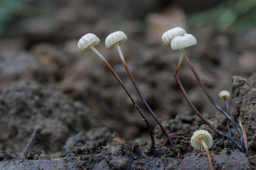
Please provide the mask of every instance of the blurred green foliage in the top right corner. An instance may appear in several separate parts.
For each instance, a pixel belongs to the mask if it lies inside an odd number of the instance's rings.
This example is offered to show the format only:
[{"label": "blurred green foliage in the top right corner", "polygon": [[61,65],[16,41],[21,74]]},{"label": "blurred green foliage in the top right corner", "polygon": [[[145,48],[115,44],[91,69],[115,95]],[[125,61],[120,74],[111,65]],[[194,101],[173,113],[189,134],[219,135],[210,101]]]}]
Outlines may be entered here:
[{"label": "blurred green foliage in the top right corner", "polygon": [[256,24],[256,0],[225,0],[214,8],[190,15],[189,23],[193,26],[215,23],[221,30],[243,32]]}]

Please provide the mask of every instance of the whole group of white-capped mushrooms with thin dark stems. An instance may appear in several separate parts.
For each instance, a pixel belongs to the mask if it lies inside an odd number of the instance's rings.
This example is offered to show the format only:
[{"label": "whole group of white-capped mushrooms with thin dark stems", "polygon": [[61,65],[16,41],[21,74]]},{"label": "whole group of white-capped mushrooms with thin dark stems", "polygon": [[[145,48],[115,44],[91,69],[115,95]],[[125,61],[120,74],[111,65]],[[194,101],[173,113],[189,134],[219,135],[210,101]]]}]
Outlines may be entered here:
[{"label": "whole group of white-capped mushrooms with thin dark stems", "polygon": [[[231,142],[233,142],[238,148],[239,150],[241,150],[242,152],[244,152],[244,148],[245,147],[245,151],[246,154],[248,154],[248,147],[247,147],[247,139],[246,139],[246,133],[244,130],[244,127],[241,125],[241,119],[239,119],[239,125],[237,125],[237,123],[231,118],[230,116],[230,111],[229,111],[229,105],[228,105],[228,101],[227,99],[229,98],[230,94],[227,91],[221,91],[219,93],[219,99],[223,99],[225,101],[226,104],[226,111],[224,111],[223,109],[221,109],[217,103],[214,101],[214,99],[212,98],[212,96],[209,94],[209,92],[207,91],[207,89],[204,87],[204,84],[202,83],[200,77],[198,76],[197,72],[195,71],[195,68],[193,67],[192,63],[189,60],[189,57],[187,56],[186,52],[185,52],[185,48],[195,45],[197,44],[197,40],[195,39],[195,37],[192,34],[186,34],[186,31],[183,28],[177,27],[177,28],[172,28],[168,31],[166,31],[163,36],[162,36],[162,40],[163,43],[166,47],[168,48],[172,48],[173,50],[180,50],[180,58],[176,67],[176,70],[174,72],[174,77],[179,85],[179,88],[183,94],[183,96],[185,97],[186,101],[189,103],[189,105],[191,106],[191,108],[193,109],[193,111],[195,111],[195,113],[203,120],[203,122],[208,125],[213,131],[215,131],[215,133],[217,133],[218,135],[221,135],[223,137],[225,137],[226,139],[229,139]],[[122,54],[120,45],[122,45],[123,43],[125,43],[127,41],[127,36],[125,35],[125,33],[123,33],[122,31],[116,31],[110,35],[108,35],[108,37],[105,40],[105,46],[108,49],[113,49],[116,48],[118,51],[118,54],[120,56],[120,59],[125,67],[125,70],[128,74],[128,77],[131,79],[131,82],[134,85],[134,88],[137,91],[137,94],[140,96],[140,99],[143,101],[143,104],[145,105],[145,107],[147,108],[147,110],[149,111],[149,113],[151,113],[151,115],[154,117],[155,121],[157,122],[157,124],[160,126],[161,130],[163,131],[165,137],[166,137],[166,144],[168,143],[170,146],[173,146],[174,143],[172,142],[170,136],[172,136],[172,134],[168,134],[165,130],[165,128],[163,127],[162,123],[159,121],[157,115],[154,113],[154,111],[152,111],[152,109],[150,108],[150,106],[148,105],[148,103],[146,102],[146,100],[144,99],[140,88],[138,87],[134,77],[131,74],[131,71],[128,68],[128,65],[125,62],[125,58]],[[137,108],[138,112],[140,113],[140,115],[143,118],[143,121],[145,121],[146,125],[148,126],[148,132],[150,133],[151,136],[151,148],[150,148],[150,153],[154,154],[155,153],[155,143],[154,143],[154,135],[153,132],[151,130],[151,127],[148,123],[148,120],[146,119],[143,111],[140,109],[139,105],[137,105],[137,102],[135,102],[134,98],[131,96],[130,92],[128,91],[128,89],[125,87],[125,85],[123,84],[122,80],[119,78],[119,76],[116,74],[116,72],[113,70],[113,68],[111,67],[111,65],[108,63],[108,61],[105,59],[105,57],[103,57],[103,55],[96,50],[95,46],[98,45],[100,42],[99,38],[94,35],[94,34],[86,34],[83,37],[81,37],[81,39],[78,42],[78,48],[79,51],[81,53],[84,53],[86,51],[92,50],[98,57],[100,57],[103,62],[105,63],[105,65],[107,65],[107,67],[110,69],[110,71],[112,72],[112,74],[114,75],[114,77],[117,79],[117,81],[119,82],[119,84],[122,86],[122,88],[125,90],[126,94],[129,96],[129,98],[131,99],[131,101],[133,102],[135,108]],[[224,116],[227,117],[227,131],[228,134],[225,134],[223,132],[221,132],[220,130],[218,130],[217,128],[215,128],[213,125],[211,125],[202,115],[201,113],[195,108],[195,106],[192,104],[192,102],[190,101],[188,95],[186,94],[185,89],[183,88],[182,83],[180,82],[180,79],[178,77],[178,71],[180,69],[180,65],[182,64],[183,58],[185,58],[186,62],[189,64],[189,67],[191,68],[193,74],[195,75],[196,79],[198,80],[199,85],[201,86],[201,88],[203,89],[204,93],[206,94],[206,96],[209,98],[210,102],[212,102],[212,104],[221,112],[224,114]],[[240,135],[240,144],[234,140],[231,136],[231,131],[230,131],[230,122],[234,125],[234,127],[236,127],[239,135]],[[240,126],[240,127],[239,127]],[[177,133],[177,136],[186,136],[185,133]],[[205,150],[207,152],[207,156],[208,156],[208,160],[209,160],[209,164],[210,164],[210,168],[211,170],[213,170],[213,164],[212,164],[212,160],[211,160],[211,156],[209,153],[208,148],[212,146],[213,140],[212,140],[212,136],[210,135],[210,133],[206,130],[197,130],[194,132],[192,138],[191,138],[191,144],[195,149],[198,150]]]}]

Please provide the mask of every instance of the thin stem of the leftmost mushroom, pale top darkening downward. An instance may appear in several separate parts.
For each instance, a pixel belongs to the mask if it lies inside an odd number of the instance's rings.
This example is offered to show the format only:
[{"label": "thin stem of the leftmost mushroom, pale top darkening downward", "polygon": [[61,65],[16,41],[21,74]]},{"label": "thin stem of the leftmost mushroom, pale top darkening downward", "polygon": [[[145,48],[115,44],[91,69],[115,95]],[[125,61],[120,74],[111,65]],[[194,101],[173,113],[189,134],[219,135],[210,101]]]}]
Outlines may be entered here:
[{"label": "thin stem of the leftmost mushroom, pale top darkening downward", "polygon": [[128,91],[128,89],[125,87],[125,85],[123,84],[122,80],[119,78],[119,76],[116,74],[116,72],[114,71],[114,69],[111,67],[111,65],[108,63],[108,61],[105,59],[105,57],[102,56],[102,54],[99,53],[98,50],[96,50],[96,48],[94,48],[92,45],[89,45],[90,49],[98,56],[100,57],[103,62],[107,65],[107,67],[110,69],[110,71],[112,72],[112,74],[114,75],[114,77],[116,77],[117,81],[119,82],[119,84],[122,86],[122,88],[125,90],[125,92],[127,93],[127,95],[129,96],[129,98],[131,99],[131,101],[133,102],[135,108],[139,111],[140,115],[143,117],[143,121],[145,121],[146,125],[148,126],[148,132],[150,133],[150,137],[151,137],[151,153],[154,154],[156,152],[155,149],[155,142],[154,142],[154,135],[153,132],[151,130],[151,127],[149,125],[148,120],[146,119],[143,111],[140,109],[140,107],[137,105],[137,103],[135,102],[134,98],[131,96],[130,92]]}]

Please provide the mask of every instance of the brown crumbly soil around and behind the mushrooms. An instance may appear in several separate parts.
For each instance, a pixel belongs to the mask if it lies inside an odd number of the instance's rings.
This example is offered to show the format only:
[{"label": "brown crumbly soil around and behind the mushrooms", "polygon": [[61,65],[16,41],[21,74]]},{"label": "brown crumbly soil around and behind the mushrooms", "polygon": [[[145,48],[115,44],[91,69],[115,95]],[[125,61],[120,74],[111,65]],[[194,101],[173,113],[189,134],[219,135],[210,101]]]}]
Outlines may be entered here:
[{"label": "brown crumbly soil around and behind the mushrooms", "polygon": [[[246,30],[246,36],[214,25],[186,28],[187,15],[177,6],[169,8],[158,0],[121,1],[116,11],[109,10],[111,3],[104,0],[62,0],[61,5],[31,0],[42,8],[40,16],[10,21],[0,39],[0,169],[209,169],[206,153],[190,144],[198,129],[213,137],[209,150],[215,169],[256,169],[256,27]],[[188,8],[186,4],[182,6]],[[198,44],[186,52],[222,108],[218,93],[231,92],[231,116],[236,122],[243,117],[248,157],[210,130],[183,98],[173,77],[179,51],[161,42],[163,30],[176,25],[196,37]],[[175,137],[174,147],[158,148],[154,155],[148,150],[151,141],[145,122],[125,91],[92,51],[80,54],[77,49],[84,34],[100,38],[96,48],[143,108],[159,147],[163,133],[140,102],[117,51],[104,46],[105,37],[119,30],[128,35],[121,48],[148,104],[168,133],[190,135]],[[179,77],[198,111],[227,133],[226,118],[203,94],[185,61]],[[20,159],[35,128],[40,129],[32,140],[35,145],[26,150],[26,159]],[[232,125],[231,131],[238,140]]]}]

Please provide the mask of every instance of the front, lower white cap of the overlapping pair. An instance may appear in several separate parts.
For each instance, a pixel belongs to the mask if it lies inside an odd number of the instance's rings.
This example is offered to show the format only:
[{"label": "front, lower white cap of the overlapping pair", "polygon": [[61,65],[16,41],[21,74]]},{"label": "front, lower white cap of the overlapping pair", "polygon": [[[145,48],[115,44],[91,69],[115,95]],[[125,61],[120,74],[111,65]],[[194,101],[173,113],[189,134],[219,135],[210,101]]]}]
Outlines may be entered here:
[{"label": "front, lower white cap of the overlapping pair", "polygon": [[193,35],[181,34],[172,39],[171,47],[173,50],[179,50],[181,48],[190,47],[190,46],[196,45],[196,44],[197,44],[197,41]]}]

